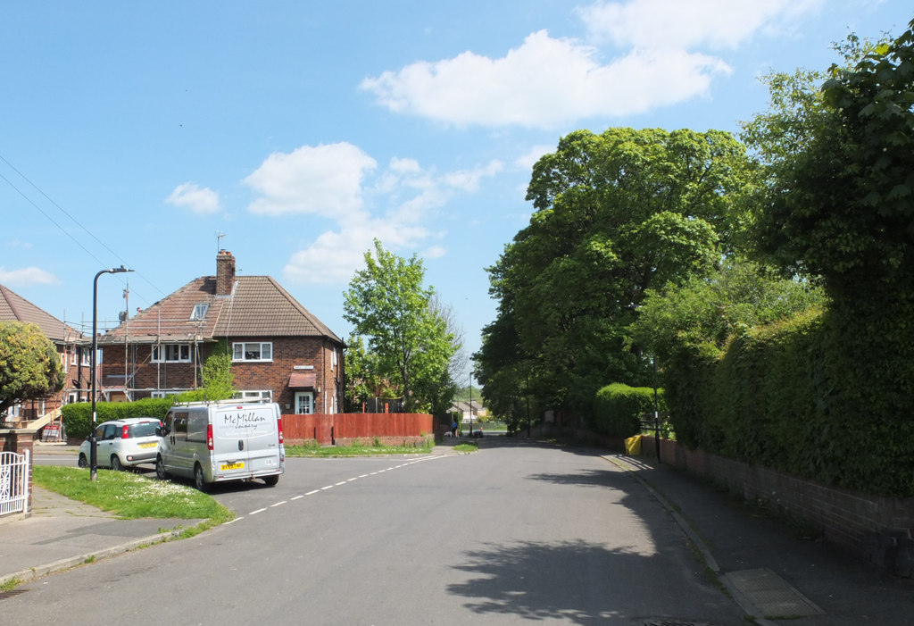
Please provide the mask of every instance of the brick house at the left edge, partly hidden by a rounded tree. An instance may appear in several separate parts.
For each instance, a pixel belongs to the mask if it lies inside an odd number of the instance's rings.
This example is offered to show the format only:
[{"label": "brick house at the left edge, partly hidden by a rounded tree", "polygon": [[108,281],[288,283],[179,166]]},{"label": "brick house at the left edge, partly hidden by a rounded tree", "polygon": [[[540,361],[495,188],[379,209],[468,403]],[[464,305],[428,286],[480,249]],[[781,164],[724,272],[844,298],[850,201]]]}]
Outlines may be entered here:
[{"label": "brick house at the left edge, partly hidden by a rounded tree", "polygon": [[47,398],[27,400],[9,410],[5,421],[12,423],[38,419],[70,402],[85,402],[90,394],[89,336],[61,322],[50,313],[0,285],[0,321],[36,324],[57,349],[60,365],[66,374],[64,388]]}]

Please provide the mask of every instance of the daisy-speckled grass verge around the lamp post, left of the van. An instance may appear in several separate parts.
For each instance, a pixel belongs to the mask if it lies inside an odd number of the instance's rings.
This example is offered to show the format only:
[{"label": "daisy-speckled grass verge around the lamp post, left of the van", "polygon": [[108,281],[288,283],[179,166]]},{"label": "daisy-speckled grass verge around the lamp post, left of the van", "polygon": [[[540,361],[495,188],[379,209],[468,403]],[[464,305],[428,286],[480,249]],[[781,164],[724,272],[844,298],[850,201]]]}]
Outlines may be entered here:
[{"label": "daisy-speckled grass verge around the lamp post, left of the van", "polygon": [[65,495],[71,500],[91,504],[123,519],[176,517],[205,520],[203,527],[189,528],[182,536],[197,535],[235,516],[211,496],[180,483],[152,480],[133,472],[109,470],[99,470],[97,479],[95,482],[90,481],[87,469],[58,465],[33,467],[33,480],[38,486]]}]

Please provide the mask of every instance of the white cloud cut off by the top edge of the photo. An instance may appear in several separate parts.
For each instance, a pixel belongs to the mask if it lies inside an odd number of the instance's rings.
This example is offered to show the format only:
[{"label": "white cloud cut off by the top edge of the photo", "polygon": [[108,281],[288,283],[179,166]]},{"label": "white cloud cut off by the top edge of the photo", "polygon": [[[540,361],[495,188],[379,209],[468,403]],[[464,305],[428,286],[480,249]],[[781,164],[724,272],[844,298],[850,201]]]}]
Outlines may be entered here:
[{"label": "white cloud cut off by the top edge of the photo", "polygon": [[593,41],[634,48],[739,48],[757,32],[782,35],[824,0],[631,0],[578,13]]}]

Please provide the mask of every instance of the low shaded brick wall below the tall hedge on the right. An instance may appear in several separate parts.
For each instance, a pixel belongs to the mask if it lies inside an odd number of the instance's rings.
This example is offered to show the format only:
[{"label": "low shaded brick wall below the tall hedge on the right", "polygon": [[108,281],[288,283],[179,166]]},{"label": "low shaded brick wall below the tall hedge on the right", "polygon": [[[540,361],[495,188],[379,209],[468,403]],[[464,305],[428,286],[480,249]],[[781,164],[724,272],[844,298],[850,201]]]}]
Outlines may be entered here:
[{"label": "low shaded brick wall below the tall hedge on the right", "polygon": [[[643,438],[653,453],[654,438]],[[661,459],[793,519],[826,541],[901,577],[914,578],[914,498],[855,493],[661,441]]]}]

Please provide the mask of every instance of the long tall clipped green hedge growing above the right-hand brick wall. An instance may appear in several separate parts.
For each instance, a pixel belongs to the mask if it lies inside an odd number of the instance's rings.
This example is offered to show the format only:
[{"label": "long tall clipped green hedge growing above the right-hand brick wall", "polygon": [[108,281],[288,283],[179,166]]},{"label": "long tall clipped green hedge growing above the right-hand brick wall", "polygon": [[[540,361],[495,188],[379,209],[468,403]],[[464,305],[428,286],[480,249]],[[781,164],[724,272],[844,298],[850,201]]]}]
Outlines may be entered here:
[{"label": "long tall clipped green hedge growing above the right-hand brick wall", "polygon": [[914,496],[914,355],[872,325],[811,313],[678,355],[664,386],[688,447],[866,493]]}]

